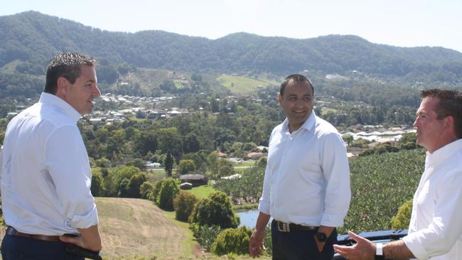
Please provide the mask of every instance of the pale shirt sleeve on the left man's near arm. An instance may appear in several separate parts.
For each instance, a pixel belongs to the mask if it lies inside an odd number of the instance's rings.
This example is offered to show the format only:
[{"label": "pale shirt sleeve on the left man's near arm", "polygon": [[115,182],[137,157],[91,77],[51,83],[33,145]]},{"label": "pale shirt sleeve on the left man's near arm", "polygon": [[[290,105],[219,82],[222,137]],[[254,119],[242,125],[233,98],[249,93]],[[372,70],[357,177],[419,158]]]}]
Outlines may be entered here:
[{"label": "pale shirt sleeve on the left man's near arm", "polygon": [[77,126],[63,126],[50,135],[45,169],[55,185],[66,224],[73,228],[97,224],[95,198],[90,192],[91,168]]}]

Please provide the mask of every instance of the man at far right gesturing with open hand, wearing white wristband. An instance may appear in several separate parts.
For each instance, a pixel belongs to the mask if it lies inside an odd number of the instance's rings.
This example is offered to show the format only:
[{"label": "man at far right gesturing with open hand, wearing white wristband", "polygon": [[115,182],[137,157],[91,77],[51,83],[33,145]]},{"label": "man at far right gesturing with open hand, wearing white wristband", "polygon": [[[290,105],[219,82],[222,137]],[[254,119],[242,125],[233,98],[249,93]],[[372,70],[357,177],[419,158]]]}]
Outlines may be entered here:
[{"label": "man at far right gesturing with open hand, wearing white wristband", "polygon": [[334,246],[347,259],[462,259],[462,95],[424,90],[421,96],[414,127],[427,153],[408,235],[382,245],[349,232],[355,246]]}]

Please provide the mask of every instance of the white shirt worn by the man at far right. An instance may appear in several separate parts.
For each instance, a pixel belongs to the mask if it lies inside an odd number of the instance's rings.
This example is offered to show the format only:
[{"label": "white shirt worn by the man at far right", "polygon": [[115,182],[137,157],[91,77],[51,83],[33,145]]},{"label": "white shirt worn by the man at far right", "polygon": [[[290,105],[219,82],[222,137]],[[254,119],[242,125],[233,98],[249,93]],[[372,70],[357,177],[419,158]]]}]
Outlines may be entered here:
[{"label": "white shirt worn by the man at far right", "polygon": [[462,139],[426,153],[403,240],[417,259],[462,259]]}]

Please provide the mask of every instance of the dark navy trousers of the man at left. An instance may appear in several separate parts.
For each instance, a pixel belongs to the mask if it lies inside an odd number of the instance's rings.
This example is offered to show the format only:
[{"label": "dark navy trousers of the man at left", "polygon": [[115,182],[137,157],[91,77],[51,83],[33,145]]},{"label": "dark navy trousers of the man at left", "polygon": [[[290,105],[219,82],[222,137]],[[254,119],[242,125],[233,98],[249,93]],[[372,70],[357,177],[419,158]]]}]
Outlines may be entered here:
[{"label": "dark navy trousers of the man at left", "polygon": [[48,242],[6,234],[1,242],[3,260],[84,260],[81,256],[66,254],[62,242]]}]

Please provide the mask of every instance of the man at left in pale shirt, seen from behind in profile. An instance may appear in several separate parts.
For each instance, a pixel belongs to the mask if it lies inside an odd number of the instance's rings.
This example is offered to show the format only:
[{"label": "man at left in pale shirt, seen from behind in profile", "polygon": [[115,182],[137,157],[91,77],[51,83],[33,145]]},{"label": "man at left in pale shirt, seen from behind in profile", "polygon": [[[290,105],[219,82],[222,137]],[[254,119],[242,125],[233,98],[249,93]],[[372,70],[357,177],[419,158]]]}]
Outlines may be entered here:
[{"label": "man at left in pale shirt, seen from behind in profile", "polygon": [[4,260],[84,259],[66,253],[65,243],[101,250],[90,163],[77,128],[101,94],[95,65],[78,53],[56,55],[40,100],[6,129],[0,156],[9,226],[1,244]]}]

